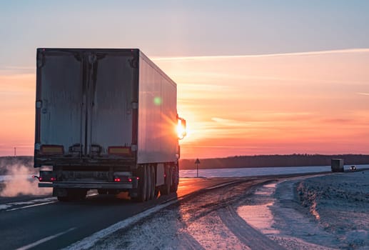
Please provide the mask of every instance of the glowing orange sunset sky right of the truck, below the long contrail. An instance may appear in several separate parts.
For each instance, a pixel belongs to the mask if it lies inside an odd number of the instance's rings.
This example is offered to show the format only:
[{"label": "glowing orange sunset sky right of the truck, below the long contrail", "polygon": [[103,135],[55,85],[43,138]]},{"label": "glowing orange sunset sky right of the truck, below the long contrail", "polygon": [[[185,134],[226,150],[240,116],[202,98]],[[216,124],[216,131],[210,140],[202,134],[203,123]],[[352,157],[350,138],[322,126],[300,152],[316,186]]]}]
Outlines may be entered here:
[{"label": "glowing orange sunset sky right of the truck, below the long contrail", "polygon": [[369,49],[154,61],[178,84],[183,156],[368,153]]}]

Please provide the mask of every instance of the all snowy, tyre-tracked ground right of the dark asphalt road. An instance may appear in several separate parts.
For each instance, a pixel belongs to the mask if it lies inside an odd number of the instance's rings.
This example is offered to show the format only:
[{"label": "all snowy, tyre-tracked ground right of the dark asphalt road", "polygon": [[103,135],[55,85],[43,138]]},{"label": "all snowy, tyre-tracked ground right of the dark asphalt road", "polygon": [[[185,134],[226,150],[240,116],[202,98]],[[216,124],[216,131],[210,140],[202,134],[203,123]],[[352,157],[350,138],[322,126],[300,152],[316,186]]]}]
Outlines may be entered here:
[{"label": "all snowy, tyre-tracked ground right of the dark asphalt road", "polygon": [[171,204],[89,249],[363,250],[368,204],[369,171],[251,180]]}]

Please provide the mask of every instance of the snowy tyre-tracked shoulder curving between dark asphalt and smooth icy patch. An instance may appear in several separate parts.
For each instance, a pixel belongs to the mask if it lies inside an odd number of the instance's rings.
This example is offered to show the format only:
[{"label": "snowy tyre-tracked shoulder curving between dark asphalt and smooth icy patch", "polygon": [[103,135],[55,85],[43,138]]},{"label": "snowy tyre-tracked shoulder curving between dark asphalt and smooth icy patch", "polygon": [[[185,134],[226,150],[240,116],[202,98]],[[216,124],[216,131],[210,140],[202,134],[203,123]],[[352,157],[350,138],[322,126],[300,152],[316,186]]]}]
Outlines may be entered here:
[{"label": "snowy tyre-tracked shoulder curving between dark asphalt and smooth icy patch", "polygon": [[251,180],[189,196],[103,237],[91,249],[283,249],[236,213],[234,204],[263,182]]}]

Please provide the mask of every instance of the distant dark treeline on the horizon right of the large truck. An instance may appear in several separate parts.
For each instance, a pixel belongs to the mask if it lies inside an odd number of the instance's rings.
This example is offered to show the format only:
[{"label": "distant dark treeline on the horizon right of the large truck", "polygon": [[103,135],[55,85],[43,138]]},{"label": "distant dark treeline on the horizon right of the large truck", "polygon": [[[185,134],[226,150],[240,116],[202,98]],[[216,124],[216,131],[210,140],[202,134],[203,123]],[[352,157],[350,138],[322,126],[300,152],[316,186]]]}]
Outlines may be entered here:
[{"label": "distant dark treeline on the horizon right of the large truck", "polygon": [[[227,158],[199,159],[199,169],[249,168],[268,166],[330,166],[331,159],[344,159],[345,164],[369,164],[364,154],[288,154],[260,156],[232,156]],[[180,169],[196,169],[196,159],[181,159]]]}]

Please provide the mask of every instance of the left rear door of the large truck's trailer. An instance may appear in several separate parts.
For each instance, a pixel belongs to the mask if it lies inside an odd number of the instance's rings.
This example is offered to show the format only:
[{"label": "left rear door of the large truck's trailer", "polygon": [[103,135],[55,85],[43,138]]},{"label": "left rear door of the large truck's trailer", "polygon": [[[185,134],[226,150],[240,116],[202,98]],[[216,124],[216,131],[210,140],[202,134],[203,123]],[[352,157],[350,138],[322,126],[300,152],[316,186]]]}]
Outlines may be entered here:
[{"label": "left rear door of the large truck's trailer", "polygon": [[36,150],[41,154],[60,154],[60,146],[66,153],[69,146],[83,145],[86,129],[83,82],[80,54],[38,49]]}]

